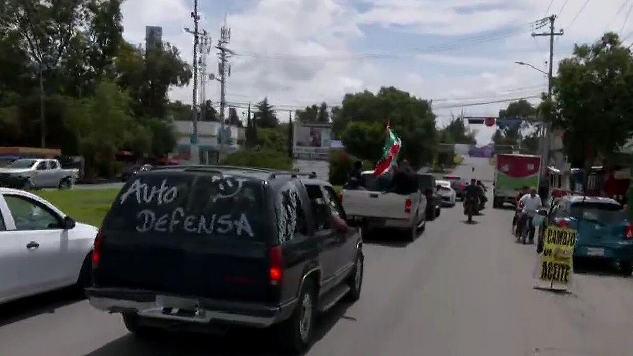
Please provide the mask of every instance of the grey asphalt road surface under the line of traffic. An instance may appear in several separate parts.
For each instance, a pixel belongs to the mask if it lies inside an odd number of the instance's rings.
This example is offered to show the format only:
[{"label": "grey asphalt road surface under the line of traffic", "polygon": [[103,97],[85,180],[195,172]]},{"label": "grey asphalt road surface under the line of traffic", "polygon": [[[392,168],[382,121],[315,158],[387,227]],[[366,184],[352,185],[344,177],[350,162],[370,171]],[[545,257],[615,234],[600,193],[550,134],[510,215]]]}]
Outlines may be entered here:
[{"label": "grey asphalt road surface under the line of traffic", "polygon": [[[487,161],[456,174],[492,178]],[[567,294],[535,290],[534,247],[510,235],[511,209],[466,224],[460,204],[413,243],[394,231],[365,241],[360,300],[318,321],[309,355],[631,355],[633,278],[584,264]],[[1,355],[272,355],[271,336],[236,329],[225,338],[137,341],[118,314],[69,292],[0,306]]]}]

